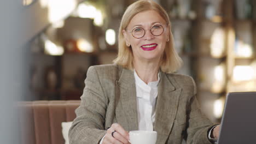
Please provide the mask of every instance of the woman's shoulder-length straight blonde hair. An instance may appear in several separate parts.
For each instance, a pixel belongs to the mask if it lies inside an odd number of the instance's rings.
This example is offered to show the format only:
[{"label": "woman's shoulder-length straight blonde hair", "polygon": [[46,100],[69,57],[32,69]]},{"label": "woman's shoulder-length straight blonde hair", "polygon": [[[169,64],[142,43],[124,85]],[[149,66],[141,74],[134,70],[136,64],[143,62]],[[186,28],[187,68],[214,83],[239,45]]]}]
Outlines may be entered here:
[{"label": "woman's shoulder-length straight blonde hair", "polygon": [[168,14],[164,10],[164,8],[162,8],[159,4],[157,4],[154,1],[140,0],[135,3],[132,3],[126,9],[119,27],[118,57],[115,58],[113,62],[123,66],[124,68],[133,69],[132,49],[131,46],[126,46],[126,41],[123,35],[123,29],[126,29],[133,16],[146,10],[155,10],[168,23],[167,29],[169,31],[170,41],[166,43],[165,51],[162,54],[160,60],[160,69],[165,73],[173,73],[181,67],[182,59],[178,56],[178,53],[174,49],[173,35],[171,33],[171,25]]}]

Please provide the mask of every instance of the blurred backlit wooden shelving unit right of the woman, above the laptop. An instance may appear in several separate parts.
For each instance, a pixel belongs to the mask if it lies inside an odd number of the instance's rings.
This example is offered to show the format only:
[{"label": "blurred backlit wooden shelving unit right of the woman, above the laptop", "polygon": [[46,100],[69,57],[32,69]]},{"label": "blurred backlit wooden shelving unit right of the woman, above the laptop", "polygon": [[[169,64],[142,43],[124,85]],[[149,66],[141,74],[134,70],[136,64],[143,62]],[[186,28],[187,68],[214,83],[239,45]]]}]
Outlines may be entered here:
[{"label": "blurred backlit wooden shelving unit right of the woman, above the laptop", "polygon": [[[167,1],[160,1],[164,5],[165,9],[170,11],[168,8]],[[256,19],[253,17],[247,19],[237,19],[236,18],[236,1],[235,0],[223,0],[222,4],[219,5],[221,8],[221,14],[219,16],[214,16],[211,18],[206,18],[206,5],[205,0],[196,0],[193,1],[191,7],[196,12],[196,18],[191,19],[175,19],[172,18],[171,21],[176,23],[179,22],[189,22],[190,29],[188,33],[190,34],[190,40],[192,43],[190,51],[182,50],[179,55],[185,59],[185,62],[189,60],[189,64],[185,64],[185,67],[182,70],[190,70],[189,73],[193,76],[197,84],[197,97],[202,105],[202,108],[205,109],[205,112],[208,112],[213,121],[219,121],[219,118],[211,117],[212,111],[209,107],[213,108],[213,102],[216,99],[225,97],[226,93],[236,91],[237,82],[234,83],[234,68],[236,65],[249,65],[252,62],[255,62],[256,59]],[[253,11],[256,10],[256,2],[253,1]],[[254,17],[256,13],[254,12]],[[237,43],[237,31],[236,25],[238,23],[249,23],[252,29],[252,51],[253,54],[251,57],[237,57],[235,53],[235,46]],[[224,53],[219,57],[213,57],[211,55],[211,34],[213,32],[211,27],[222,27],[224,31]],[[173,28],[173,31],[176,29]],[[175,39],[175,35],[174,35]],[[218,47],[216,47],[218,49]],[[180,51],[180,50],[178,50]],[[187,60],[188,59],[188,60]],[[207,63],[208,62],[208,63]],[[214,81],[214,68],[217,65],[224,65],[224,83],[220,83],[223,88],[221,91],[213,91],[212,87],[215,85]],[[254,65],[256,67],[256,65]],[[254,68],[256,70],[256,68]],[[183,71],[179,71],[183,73]],[[254,72],[256,73],[256,71]],[[253,80],[249,81],[251,83],[256,83],[256,77]],[[248,82],[248,83],[249,83]],[[207,85],[207,86],[206,86]],[[241,85],[244,85],[244,91],[248,91],[248,85],[245,81],[241,82]],[[256,84],[254,84],[256,87]],[[230,88],[232,87],[232,88]],[[251,89],[256,91],[256,88]],[[241,87],[238,87],[237,91],[243,91]],[[208,101],[210,100],[210,101]],[[207,102],[208,101],[208,102]],[[208,104],[208,105],[207,105]],[[211,106],[209,106],[211,105]]]}]

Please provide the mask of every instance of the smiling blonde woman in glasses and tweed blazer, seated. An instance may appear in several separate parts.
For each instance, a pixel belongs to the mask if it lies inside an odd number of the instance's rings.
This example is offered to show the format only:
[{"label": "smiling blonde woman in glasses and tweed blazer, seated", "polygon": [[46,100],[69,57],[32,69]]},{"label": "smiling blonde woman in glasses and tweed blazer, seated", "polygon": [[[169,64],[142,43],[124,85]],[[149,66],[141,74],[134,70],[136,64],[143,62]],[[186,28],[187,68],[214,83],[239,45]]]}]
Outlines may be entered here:
[{"label": "smiling blonde woman in glasses and tweed blazer, seated", "polygon": [[156,143],[218,138],[219,126],[197,105],[194,80],[173,74],[182,61],[160,5],[137,1],[126,9],[114,63],[89,68],[70,143],[129,143],[131,130],[157,131]]}]

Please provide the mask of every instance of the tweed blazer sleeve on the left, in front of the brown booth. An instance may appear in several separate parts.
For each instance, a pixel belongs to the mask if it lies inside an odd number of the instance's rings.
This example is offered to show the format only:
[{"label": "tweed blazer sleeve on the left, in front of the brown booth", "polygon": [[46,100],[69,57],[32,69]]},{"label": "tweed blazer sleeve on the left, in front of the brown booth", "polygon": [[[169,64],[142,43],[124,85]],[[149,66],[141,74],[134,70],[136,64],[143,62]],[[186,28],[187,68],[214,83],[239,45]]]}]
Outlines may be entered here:
[{"label": "tweed blazer sleeve on the left, in front of the brown booth", "polygon": [[106,134],[104,119],[107,98],[95,67],[88,69],[80,106],[75,110],[77,117],[69,129],[69,143],[97,144]]}]

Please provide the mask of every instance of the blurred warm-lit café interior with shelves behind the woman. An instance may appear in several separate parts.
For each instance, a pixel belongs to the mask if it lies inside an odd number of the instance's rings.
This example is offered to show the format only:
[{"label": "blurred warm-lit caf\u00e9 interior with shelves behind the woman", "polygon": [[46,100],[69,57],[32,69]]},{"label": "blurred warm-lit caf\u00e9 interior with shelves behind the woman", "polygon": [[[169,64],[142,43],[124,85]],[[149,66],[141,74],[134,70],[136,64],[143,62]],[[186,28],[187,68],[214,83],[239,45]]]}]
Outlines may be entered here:
[{"label": "blurred warm-lit caf\u00e9 interior with shelves behind the woman", "polygon": [[[22,100],[80,99],[90,65],[117,57],[121,16],[133,2],[23,0]],[[219,122],[226,93],[256,90],[256,1],[156,2],[170,16],[184,61],[177,73],[195,79],[202,111]]]}]

